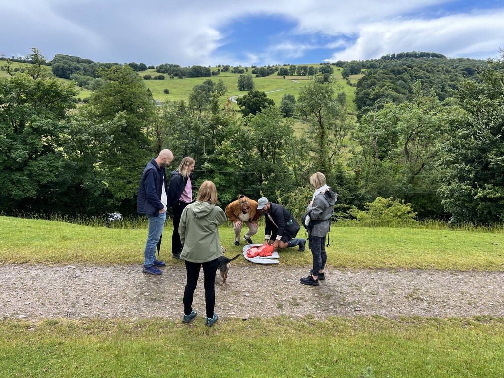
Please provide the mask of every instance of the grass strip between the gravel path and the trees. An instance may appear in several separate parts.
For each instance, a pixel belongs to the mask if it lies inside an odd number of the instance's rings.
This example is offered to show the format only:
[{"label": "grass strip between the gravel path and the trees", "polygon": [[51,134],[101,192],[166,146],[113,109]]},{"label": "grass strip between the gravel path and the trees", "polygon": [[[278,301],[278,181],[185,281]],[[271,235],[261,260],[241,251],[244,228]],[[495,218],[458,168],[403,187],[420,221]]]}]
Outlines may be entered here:
[{"label": "grass strip between the gravel path and the trees", "polygon": [[[147,235],[138,228],[91,227],[42,219],[0,216],[0,262],[31,264],[141,264]],[[264,229],[259,225],[259,233]],[[165,226],[165,250],[171,245],[172,226]],[[219,229],[229,255],[231,224]],[[298,236],[302,236],[301,234]],[[262,240],[255,238],[256,242]],[[504,231],[477,232],[428,228],[332,227],[326,248],[333,268],[442,269],[504,271]],[[280,264],[309,266],[311,254],[296,248],[280,251]],[[167,252],[166,252],[167,253]],[[167,259],[167,264],[181,264]]]}]

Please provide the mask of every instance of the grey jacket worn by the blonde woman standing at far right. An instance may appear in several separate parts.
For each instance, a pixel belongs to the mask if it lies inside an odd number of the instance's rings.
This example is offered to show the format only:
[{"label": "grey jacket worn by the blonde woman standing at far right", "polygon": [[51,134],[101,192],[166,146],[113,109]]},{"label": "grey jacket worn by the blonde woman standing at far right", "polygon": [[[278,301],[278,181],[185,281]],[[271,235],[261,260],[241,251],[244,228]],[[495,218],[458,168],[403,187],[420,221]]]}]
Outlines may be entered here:
[{"label": "grey jacket worn by the blonde woman standing at far right", "polygon": [[313,228],[308,233],[311,236],[323,237],[327,235],[331,228],[331,216],[333,215],[334,204],[337,198],[338,195],[329,189],[325,193],[321,193],[315,197],[311,205],[308,205],[301,221],[306,228],[305,219],[306,217],[310,218]]}]

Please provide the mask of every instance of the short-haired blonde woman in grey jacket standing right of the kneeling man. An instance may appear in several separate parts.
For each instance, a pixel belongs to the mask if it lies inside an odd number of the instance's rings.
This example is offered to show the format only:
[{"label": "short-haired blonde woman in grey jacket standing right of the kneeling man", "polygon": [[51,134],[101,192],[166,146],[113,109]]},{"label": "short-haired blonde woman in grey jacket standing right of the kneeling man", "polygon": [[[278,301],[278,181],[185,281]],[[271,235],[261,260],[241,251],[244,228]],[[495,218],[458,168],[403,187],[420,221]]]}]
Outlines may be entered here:
[{"label": "short-haired blonde woman in grey jacket standing right of the kneeling man", "polygon": [[319,286],[326,278],[324,268],[327,263],[326,235],[331,229],[331,216],[338,195],[331,191],[326,183],[324,173],[317,172],[310,176],[310,184],[315,188],[311,201],[303,214],[301,221],[308,230],[308,247],[313,256],[313,264],[308,277],[301,277],[303,285]]}]

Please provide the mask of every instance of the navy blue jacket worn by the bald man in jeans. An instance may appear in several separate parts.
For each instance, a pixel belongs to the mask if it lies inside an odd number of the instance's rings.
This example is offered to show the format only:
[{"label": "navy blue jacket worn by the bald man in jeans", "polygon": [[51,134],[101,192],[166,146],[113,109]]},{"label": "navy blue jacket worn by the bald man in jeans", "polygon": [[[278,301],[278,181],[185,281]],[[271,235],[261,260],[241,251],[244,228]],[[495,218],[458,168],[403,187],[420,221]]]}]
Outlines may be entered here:
[{"label": "navy blue jacket worn by the bald man in jeans", "polygon": [[147,164],[138,186],[137,211],[140,214],[159,215],[159,210],[164,209],[161,202],[161,195],[164,189],[168,193],[168,182],[166,181],[166,169],[159,168],[156,159],[152,158]]}]

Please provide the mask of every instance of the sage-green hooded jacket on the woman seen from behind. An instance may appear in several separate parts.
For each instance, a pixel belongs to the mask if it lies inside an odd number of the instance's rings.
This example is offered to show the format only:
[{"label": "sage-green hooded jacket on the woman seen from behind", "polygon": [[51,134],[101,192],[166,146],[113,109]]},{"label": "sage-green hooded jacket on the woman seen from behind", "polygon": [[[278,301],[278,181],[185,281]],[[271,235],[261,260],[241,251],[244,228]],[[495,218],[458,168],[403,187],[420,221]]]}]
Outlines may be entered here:
[{"label": "sage-green hooded jacket on the woman seen from behind", "polygon": [[196,201],[187,205],[182,211],[178,225],[178,234],[183,246],[180,259],[193,263],[206,263],[222,256],[217,228],[226,220],[224,210],[208,202]]}]

